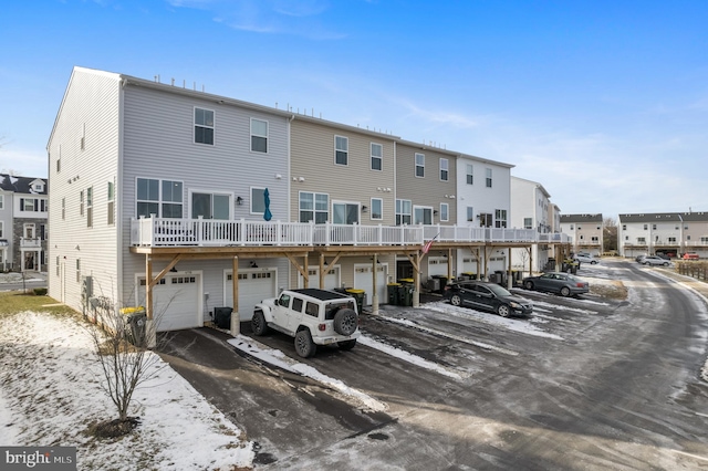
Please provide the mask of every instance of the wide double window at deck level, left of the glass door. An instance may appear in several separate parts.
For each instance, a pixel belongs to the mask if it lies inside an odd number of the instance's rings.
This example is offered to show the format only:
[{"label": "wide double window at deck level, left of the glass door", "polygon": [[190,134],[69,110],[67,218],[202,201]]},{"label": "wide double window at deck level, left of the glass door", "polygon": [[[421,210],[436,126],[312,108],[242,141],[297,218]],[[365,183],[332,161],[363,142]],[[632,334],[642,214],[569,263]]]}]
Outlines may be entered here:
[{"label": "wide double window at deck level, left of the glass door", "polygon": [[138,178],[136,216],[183,218],[183,198],[181,181]]}]

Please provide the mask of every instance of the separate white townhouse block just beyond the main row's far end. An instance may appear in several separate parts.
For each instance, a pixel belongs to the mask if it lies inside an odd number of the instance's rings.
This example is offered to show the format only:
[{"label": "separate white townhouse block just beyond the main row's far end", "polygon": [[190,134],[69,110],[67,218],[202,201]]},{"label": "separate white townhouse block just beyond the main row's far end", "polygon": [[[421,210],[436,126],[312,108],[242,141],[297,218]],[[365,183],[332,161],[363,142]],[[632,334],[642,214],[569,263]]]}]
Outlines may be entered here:
[{"label": "separate white townhouse block just beyond the main row's far end", "polygon": [[[559,229],[553,226],[559,216],[551,202],[551,195],[543,188],[543,185],[524,178],[511,177],[512,227],[533,229],[539,234],[555,237],[560,236]],[[555,249],[558,245],[540,243],[528,248],[525,253],[521,249],[513,250],[512,268],[521,272],[543,271],[551,258],[558,259]]]}]

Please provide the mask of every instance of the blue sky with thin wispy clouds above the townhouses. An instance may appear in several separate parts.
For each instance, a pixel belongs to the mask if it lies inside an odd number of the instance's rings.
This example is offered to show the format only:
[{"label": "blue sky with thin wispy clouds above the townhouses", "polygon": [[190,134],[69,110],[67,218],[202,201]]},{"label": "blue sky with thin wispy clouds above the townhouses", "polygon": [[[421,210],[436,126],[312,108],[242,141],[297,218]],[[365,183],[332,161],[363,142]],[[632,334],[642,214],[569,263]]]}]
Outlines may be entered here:
[{"label": "blue sky with thin wispy clouds above the townhouses", "polygon": [[0,171],[45,177],[74,65],[512,164],[563,213],[708,210],[708,2],[15,0]]}]

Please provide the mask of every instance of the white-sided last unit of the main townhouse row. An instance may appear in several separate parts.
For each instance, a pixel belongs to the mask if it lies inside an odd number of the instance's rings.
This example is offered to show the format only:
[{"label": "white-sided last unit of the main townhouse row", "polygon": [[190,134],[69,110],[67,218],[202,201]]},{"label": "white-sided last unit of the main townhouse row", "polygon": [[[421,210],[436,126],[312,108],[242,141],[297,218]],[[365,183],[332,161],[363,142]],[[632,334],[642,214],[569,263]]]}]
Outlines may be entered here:
[{"label": "white-sided last unit of the main townhouse row", "polygon": [[[457,223],[473,229],[520,228],[511,221],[511,168],[513,165],[469,155],[457,158]],[[524,249],[513,249],[524,250]],[[457,250],[457,275],[487,278],[504,271],[508,251],[485,247]]]}]

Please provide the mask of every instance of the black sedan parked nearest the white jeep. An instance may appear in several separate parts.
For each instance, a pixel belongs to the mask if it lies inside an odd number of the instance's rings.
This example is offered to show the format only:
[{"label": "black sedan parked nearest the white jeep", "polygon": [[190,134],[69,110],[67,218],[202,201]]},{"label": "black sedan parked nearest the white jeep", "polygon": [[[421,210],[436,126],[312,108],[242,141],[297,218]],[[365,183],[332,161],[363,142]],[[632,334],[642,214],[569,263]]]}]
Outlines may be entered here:
[{"label": "black sedan parked nearest the white jeep", "polygon": [[531,315],[533,304],[511,294],[496,283],[466,281],[445,286],[444,296],[454,306],[469,306],[490,311],[502,317],[510,315]]}]

